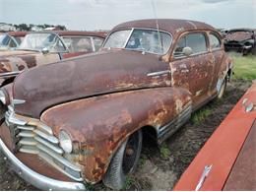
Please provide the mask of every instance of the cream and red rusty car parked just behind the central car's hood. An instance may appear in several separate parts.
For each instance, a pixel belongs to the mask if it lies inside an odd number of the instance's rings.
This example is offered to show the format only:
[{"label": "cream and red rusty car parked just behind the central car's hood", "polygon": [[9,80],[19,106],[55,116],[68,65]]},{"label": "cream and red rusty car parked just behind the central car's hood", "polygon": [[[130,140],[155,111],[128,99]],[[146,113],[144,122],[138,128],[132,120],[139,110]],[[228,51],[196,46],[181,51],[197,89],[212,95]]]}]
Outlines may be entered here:
[{"label": "cream and red rusty car parked just behind the central car's hood", "polygon": [[30,32],[15,51],[0,51],[0,86],[32,67],[96,52],[104,37],[103,32]]}]

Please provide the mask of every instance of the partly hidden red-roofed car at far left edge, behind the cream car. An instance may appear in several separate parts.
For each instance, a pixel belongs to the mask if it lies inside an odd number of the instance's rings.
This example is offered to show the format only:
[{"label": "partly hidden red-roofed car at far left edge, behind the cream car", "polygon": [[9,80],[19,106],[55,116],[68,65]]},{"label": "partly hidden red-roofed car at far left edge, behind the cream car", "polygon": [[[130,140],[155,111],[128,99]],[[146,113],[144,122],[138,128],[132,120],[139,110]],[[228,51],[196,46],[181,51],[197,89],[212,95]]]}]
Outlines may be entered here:
[{"label": "partly hidden red-roofed car at far left edge, behind the cream car", "polygon": [[27,32],[5,32],[0,33],[0,51],[17,48]]}]

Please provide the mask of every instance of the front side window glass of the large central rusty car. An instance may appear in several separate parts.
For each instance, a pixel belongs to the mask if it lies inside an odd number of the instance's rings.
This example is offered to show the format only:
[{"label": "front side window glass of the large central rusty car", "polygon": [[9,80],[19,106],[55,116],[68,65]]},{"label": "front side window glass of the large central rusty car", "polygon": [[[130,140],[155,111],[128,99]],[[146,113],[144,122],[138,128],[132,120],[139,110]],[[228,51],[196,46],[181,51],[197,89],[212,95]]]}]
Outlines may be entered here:
[{"label": "front side window glass of the large central rusty car", "polygon": [[183,53],[184,47],[190,47],[192,54],[206,52],[207,43],[205,34],[202,32],[192,32],[181,37],[174,50],[174,57],[185,56]]}]

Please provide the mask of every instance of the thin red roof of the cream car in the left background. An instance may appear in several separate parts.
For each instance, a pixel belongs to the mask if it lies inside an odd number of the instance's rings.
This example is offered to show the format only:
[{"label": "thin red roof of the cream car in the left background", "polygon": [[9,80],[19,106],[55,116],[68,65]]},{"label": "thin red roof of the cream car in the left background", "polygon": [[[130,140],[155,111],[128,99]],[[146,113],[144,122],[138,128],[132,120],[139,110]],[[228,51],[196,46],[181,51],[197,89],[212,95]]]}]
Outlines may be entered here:
[{"label": "thin red roof of the cream car in the left background", "polygon": [[[72,36],[72,35],[82,35],[82,36],[98,36],[105,37],[105,32],[83,32],[83,31],[40,31],[43,32],[55,32],[60,36]],[[38,32],[30,32],[30,33],[38,33]]]}]

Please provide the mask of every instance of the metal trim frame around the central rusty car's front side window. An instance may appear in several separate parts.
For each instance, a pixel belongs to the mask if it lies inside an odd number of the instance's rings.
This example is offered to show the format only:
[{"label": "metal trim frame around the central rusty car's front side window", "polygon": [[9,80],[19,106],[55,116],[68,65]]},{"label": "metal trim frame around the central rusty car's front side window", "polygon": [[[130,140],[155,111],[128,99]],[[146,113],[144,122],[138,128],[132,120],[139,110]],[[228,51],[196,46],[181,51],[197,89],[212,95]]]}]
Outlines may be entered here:
[{"label": "metal trim frame around the central rusty car's front side window", "polygon": [[[189,56],[178,56],[178,57],[175,57],[174,55],[174,51],[175,51],[175,48],[177,46],[177,43],[179,42],[179,40],[185,36],[185,35],[188,35],[188,34],[191,34],[191,33],[202,33],[204,36],[205,36],[205,40],[206,40],[206,48],[207,50],[206,51],[202,51],[202,52],[197,52],[197,53],[194,53],[194,54],[191,54]],[[209,53],[210,52],[210,46],[209,46],[209,38],[208,38],[208,34],[207,32],[205,31],[190,31],[190,32],[183,32],[182,34],[179,35],[178,37],[178,40],[176,41],[175,43],[175,47],[173,48],[172,50],[172,53],[171,53],[171,57],[172,57],[172,60],[179,60],[179,59],[183,59],[183,58],[190,58],[190,57],[194,57],[194,56],[198,56],[198,55],[203,55],[203,54],[206,54],[206,53]]]}]

